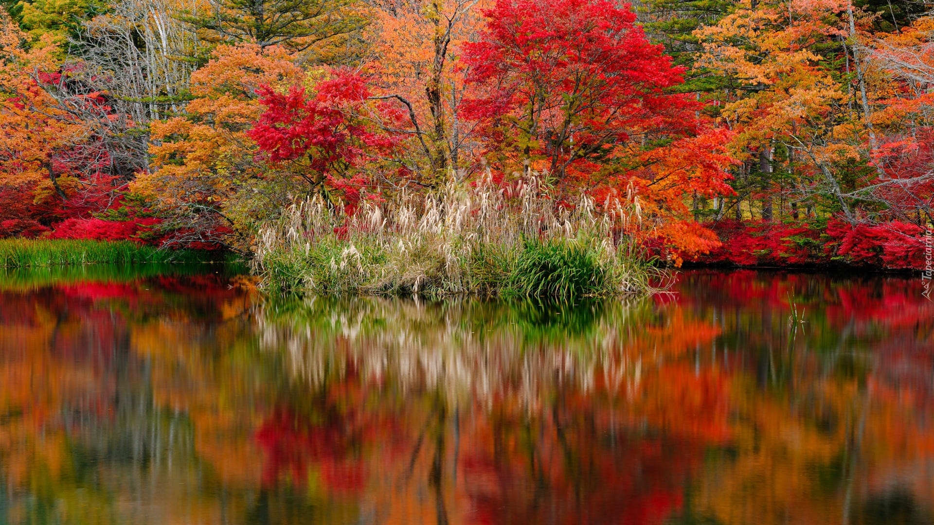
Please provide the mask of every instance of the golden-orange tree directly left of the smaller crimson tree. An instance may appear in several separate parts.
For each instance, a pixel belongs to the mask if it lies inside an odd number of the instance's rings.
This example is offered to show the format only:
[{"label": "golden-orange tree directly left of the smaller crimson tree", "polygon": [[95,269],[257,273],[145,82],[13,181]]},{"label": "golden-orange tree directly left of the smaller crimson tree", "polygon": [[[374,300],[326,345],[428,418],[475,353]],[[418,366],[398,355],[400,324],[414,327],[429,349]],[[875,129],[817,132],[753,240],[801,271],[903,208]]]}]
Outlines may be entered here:
[{"label": "golden-orange tree directly left of the smaller crimson tree", "polygon": [[284,90],[306,78],[282,48],[219,46],[191,75],[185,115],[152,122],[153,169],[131,188],[176,220],[187,234],[180,241],[233,246],[250,220],[286,206],[282,199],[293,191],[267,170],[247,135],[263,110],[258,90]]}]

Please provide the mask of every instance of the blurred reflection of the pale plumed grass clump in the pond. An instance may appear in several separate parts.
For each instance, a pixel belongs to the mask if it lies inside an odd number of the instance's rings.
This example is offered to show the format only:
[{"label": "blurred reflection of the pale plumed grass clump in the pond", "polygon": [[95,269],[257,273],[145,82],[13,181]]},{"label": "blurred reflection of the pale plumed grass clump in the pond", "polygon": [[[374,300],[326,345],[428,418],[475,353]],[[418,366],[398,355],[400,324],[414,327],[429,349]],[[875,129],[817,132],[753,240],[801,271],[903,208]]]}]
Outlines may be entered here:
[{"label": "blurred reflection of the pale plumed grass clump in the pond", "polygon": [[403,390],[442,389],[449,402],[516,396],[522,403],[551,396],[555,380],[592,385],[597,371],[617,385],[637,381],[642,360],[633,337],[656,314],[645,300],[359,296],[270,299],[255,313],[261,348],[313,388],[355,374]]}]

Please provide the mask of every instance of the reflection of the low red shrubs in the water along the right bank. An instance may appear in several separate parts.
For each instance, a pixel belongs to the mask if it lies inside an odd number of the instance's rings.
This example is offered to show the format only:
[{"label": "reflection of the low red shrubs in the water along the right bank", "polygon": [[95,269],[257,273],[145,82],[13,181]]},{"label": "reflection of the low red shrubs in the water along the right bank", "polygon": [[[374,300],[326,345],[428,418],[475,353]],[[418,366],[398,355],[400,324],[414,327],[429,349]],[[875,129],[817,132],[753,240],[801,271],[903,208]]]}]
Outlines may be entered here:
[{"label": "reflection of the low red shrubs in the water along the right bank", "polygon": [[[930,351],[934,348],[934,303],[922,295],[920,279],[873,277],[864,281],[753,270],[697,271],[686,274],[677,288],[683,293],[671,308],[672,317],[677,309],[705,308],[705,313],[695,317],[720,319],[726,333],[743,333],[740,348],[785,345],[794,303],[806,321],[794,334],[799,345],[809,342],[814,348],[816,344],[818,349],[831,350],[830,355],[840,344],[857,342],[872,350],[862,356],[871,363],[867,380],[877,389],[901,392],[902,402],[919,408],[934,405],[934,382],[929,374],[934,360]],[[828,343],[817,337],[829,334],[838,335],[840,342],[831,337],[830,347],[820,348]]]}]

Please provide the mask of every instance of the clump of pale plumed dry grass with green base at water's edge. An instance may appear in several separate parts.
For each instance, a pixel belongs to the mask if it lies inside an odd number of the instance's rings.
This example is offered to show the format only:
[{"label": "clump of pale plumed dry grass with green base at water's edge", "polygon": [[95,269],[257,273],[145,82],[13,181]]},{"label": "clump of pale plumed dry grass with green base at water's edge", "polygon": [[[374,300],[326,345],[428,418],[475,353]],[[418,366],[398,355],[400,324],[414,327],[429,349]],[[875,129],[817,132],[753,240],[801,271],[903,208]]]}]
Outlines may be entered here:
[{"label": "clump of pale plumed dry grass with green base at water's edge", "polygon": [[630,236],[637,217],[592,199],[559,206],[531,177],[508,192],[487,178],[439,194],[368,202],[350,215],[319,197],[258,235],[269,291],[553,296],[644,293],[658,277]]}]

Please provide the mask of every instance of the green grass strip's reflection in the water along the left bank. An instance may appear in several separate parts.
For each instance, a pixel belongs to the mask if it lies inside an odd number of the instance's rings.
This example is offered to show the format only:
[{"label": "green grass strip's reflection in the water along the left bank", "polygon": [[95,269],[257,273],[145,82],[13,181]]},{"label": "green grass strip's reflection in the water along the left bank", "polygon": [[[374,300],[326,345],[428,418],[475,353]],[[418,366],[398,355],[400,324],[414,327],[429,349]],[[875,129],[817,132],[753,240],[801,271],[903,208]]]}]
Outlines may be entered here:
[{"label": "green grass strip's reflection in the water along the left bank", "polygon": [[36,266],[32,268],[0,267],[0,291],[30,291],[40,288],[85,282],[130,282],[158,276],[196,276],[218,268],[226,275],[246,273],[236,264],[201,264],[150,262],[147,264],[82,264]]}]

